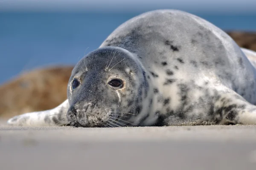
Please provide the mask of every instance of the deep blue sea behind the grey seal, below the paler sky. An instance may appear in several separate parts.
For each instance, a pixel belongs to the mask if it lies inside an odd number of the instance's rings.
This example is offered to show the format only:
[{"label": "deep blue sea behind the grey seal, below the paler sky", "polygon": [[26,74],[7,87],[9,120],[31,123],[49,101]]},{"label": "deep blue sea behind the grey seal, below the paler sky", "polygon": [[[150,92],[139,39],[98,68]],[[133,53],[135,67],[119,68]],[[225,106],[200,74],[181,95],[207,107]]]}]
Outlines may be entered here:
[{"label": "deep blue sea behind the grey seal, below the paler sky", "polygon": [[[0,13],[0,83],[45,65],[76,64],[139,13]],[[256,31],[256,14],[197,14],[224,30]]]}]

